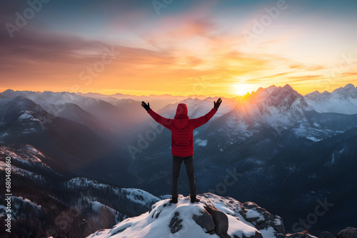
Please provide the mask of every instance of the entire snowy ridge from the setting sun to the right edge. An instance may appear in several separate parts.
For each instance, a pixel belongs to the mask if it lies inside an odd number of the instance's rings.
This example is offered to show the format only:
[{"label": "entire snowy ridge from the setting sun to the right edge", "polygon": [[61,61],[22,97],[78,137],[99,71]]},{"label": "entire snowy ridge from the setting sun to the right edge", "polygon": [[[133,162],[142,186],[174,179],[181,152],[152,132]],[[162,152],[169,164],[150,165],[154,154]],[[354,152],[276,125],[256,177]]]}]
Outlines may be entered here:
[{"label": "entire snowy ridge from the setting sun to the right edge", "polygon": [[262,132],[282,135],[288,131],[295,138],[318,142],[355,127],[348,115],[356,113],[357,89],[351,84],[333,93],[314,92],[305,97],[287,84],[259,88],[218,118],[211,130],[228,138],[228,145]]}]

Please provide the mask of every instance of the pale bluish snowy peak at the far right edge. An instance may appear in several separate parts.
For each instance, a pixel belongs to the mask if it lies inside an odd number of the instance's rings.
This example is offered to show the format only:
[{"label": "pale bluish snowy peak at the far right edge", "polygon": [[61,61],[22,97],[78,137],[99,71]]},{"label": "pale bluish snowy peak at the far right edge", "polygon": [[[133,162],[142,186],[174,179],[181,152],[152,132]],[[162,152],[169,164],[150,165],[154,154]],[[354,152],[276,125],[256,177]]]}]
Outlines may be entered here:
[{"label": "pale bluish snowy peak at the far right edge", "polygon": [[348,84],[332,93],[324,91],[305,95],[306,103],[318,113],[357,114],[357,87]]}]

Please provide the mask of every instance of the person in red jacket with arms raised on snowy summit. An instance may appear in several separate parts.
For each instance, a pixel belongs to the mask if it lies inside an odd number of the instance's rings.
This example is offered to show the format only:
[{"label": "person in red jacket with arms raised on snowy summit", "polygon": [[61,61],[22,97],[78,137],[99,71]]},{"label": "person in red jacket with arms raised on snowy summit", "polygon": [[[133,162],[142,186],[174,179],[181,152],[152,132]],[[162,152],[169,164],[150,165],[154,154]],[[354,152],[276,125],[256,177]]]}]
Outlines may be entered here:
[{"label": "person in red jacket with arms raised on snowy summit", "polygon": [[199,202],[196,198],[196,180],[193,170],[193,130],[200,127],[210,120],[221,105],[222,100],[218,98],[217,102],[213,101],[213,108],[206,115],[200,118],[188,118],[188,109],[185,103],[179,103],[176,109],[174,119],[164,118],[150,108],[150,104],[144,101],[141,105],[151,115],[157,123],[164,125],[171,130],[171,154],[172,154],[172,197],[170,203],[177,203],[178,199],[178,176],[180,175],[181,163],[185,162],[188,182],[190,186],[191,202]]}]

